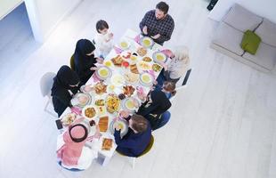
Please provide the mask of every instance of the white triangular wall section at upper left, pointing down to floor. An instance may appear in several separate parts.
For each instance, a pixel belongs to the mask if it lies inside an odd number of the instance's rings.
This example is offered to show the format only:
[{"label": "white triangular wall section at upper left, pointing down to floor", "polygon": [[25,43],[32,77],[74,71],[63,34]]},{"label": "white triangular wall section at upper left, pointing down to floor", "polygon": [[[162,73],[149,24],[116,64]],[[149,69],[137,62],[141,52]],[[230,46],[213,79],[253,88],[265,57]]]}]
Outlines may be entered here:
[{"label": "white triangular wall section at upper left, pointing down to floor", "polygon": [[37,41],[44,42],[58,23],[81,0],[25,0],[28,19]]}]

